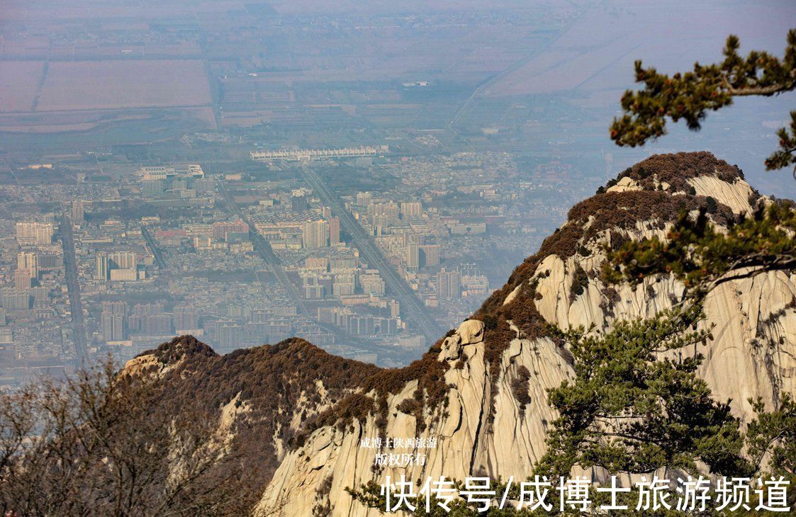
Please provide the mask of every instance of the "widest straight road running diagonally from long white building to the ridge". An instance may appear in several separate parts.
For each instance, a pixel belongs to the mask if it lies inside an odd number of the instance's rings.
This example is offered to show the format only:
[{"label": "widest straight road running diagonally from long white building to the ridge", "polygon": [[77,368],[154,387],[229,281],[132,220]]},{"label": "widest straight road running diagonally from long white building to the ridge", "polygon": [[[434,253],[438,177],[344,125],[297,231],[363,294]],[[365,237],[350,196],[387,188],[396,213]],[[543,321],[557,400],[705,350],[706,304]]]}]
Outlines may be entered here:
[{"label": "widest straight road running diagonally from long white building to the ridge", "polygon": [[369,235],[365,228],[354,220],[351,213],[341,203],[338,196],[331,192],[329,187],[326,186],[318,173],[309,167],[299,167],[301,170],[304,181],[307,185],[318,193],[323,202],[327,204],[334,212],[335,216],[340,219],[341,227],[348,231],[353,239],[353,245],[357,247],[359,252],[368,261],[368,266],[373,267],[379,271],[381,278],[384,278],[384,283],[392,293],[396,300],[400,302],[401,313],[404,314],[404,319],[410,327],[418,330],[426,336],[427,344],[434,343],[443,336],[442,329],[439,328],[437,322],[429,316],[428,310],[423,303],[416,296],[415,292],[409,287],[409,284],[403,277],[398,274],[398,271],[392,267],[385,259],[384,255],[376,246],[376,241],[373,235]]}]

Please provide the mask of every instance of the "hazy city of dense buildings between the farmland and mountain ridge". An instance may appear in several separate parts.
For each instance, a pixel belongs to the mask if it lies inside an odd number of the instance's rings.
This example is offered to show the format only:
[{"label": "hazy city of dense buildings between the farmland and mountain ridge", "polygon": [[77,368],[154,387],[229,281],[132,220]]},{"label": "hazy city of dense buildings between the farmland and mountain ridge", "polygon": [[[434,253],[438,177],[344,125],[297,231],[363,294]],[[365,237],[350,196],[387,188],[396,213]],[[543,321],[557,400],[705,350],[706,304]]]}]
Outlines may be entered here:
[{"label": "hazy city of dense buildings between the farmland and mountain ridge", "polygon": [[74,363],[80,343],[127,360],[182,333],[219,352],[302,336],[359,360],[405,363],[428,343],[384,264],[368,263],[342,221],[371,235],[450,328],[563,219],[568,204],[550,196],[583,197],[558,162],[522,171],[503,154],[362,153],[339,158],[393,180],[365,190],[342,176],[334,209],[291,172],[297,159],[335,174],[340,164],[322,153],[263,158],[256,173],[106,164],[62,184],[0,185],[18,208],[0,218],[0,385],[19,378],[9,371]]}]

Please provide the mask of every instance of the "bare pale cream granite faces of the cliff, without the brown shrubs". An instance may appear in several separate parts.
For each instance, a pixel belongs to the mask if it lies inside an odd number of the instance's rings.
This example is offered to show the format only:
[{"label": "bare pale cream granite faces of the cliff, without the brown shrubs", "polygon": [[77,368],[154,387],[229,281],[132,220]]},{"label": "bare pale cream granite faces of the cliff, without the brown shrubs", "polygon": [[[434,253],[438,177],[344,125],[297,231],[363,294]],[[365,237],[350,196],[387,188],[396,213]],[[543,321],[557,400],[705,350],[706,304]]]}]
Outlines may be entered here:
[{"label": "bare pale cream granite faces of the cliff, without the brown shrubs", "polygon": [[[697,196],[710,196],[735,214],[753,210],[753,191],[745,181],[724,181],[711,171],[689,177],[687,185]],[[642,187],[626,178],[613,192]],[[683,195],[661,185],[670,196]],[[692,192],[693,195],[693,192]],[[767,202],[765,198],[755,202]],[[599,279],[604,260],[599,243],[623,238],[643,239],[665,235],[671,221],[638,221],[630,230],[599,231],[581,245],[593,250],[562,258],[548,255],[537,265],[528,282],[535,282],[532,301],[538,313],[560,328],[595,324],[609,328],[613,321],[651,317],[681,299],[683,286],[673,278],[649,278],[639,286],[622,285],[608,290]],[[578,270],[587,274],[579,294],[571,293]],[[506,301],[522,296],[519,286]],[[732,399],[732,410],[744,421],[751,418],[748,398],[763,398],[774,406],[782,393],[796,389],[796,274],[774,272],[727,282],[705,301],[706,321],[715,325],[712,340],[700,347],[705,361],[700,376],[717,399]],[[517,322],[515,322],[517,323]],[[519,326],[519,325],[518,325]],[[412,480],[444,475],[463,479],[488,475],[525,478],[544,453],[549,422],[556,418],[547,404],[546,390],[572,377],[567,352],[546,336],[528,339],[517,327],[499,358],[497,367],[486,358],[484,323],[467,320],[441,344],[439,361],[447,364],[445,382],[451,385],[447,403],[423,414],[423,425],[399,409],[411,398],[416,381],[388,399],[384,430],[377,416],[354,421],[339,430],[326,426],[315,430],[302,447],[287,451],[256,507],[256,515],[312,515],[326,505],[331,515],[380,515],[361,506],[345,488],[374,480],[383,482],[401,475]],[[690,353],[687,350],[683,353]],[[527,370],[529,402],[521,404],[513,383]],[[435,440],[429,449],[381,449],[361,446],[370,437],[422,437]],[[374,468],[378,453],[425,453],[423,465]],[[600,477],[600,472],[587,472]]]}]

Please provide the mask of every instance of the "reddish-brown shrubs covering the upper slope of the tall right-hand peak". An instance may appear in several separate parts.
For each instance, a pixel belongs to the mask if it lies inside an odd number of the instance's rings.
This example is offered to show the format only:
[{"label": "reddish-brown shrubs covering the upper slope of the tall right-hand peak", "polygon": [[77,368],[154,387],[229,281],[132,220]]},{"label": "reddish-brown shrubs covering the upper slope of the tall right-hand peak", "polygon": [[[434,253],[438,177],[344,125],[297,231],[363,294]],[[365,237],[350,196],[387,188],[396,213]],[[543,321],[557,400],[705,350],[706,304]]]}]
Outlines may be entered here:
[{"label": "reddish-brown shrubs covering the upper slope of the tall right-hand peak", "polygon": [[[671,185],[669,190],[655,189],[654,175],[657,175],[657,181]],[[490,322],[486,325],[485,340],[486,360],[490,363],[493,385],[497,382],[497,367],[501,355],[509,342],[516,337],[515,332],[509,328],[508,321],[513,322],[520,329],[521,337],[527,339],[555,336],[534,303],[537,292],[533,275],[544,258],[557,255],[566,260],[577,254],[587,256],[585,245],[598,239],[602,232],[610,233],[612,247],[621,247],[627,240],[624,231],[634,229],[639,222],[648,222],[663,229],[666,224],[676,221],[684,211],[705,208],[718,224],[734,221],[736,217],[726,205],[706,196],[696,196],[696,192],[689,189],[690,178],[705,175],[730,183],[743,179],[743,173],[736,166],[729,165],[707,152],[656,154],[626,169],[617,178],[629,176],[639,181],[645,190],[606,192],[601,189],[595,196],[572,207],[568,212],[567,223],[544,239],[539,251],[525,258],[513,271],[505,286],[495,290],[473,315],[474,319]],[[609,185],[615,183],[616,180],[613,180]],[[673,195],[673,192],[678,192],[678,195]],[[583,293],[586,282],[585,272],[576,272],[571,286],[570,302]],[[517,289],[517,286],[520,286],[520,292],[504,305],[509,293]],[[606,313],[612,312],[609,305],[604,310]]]}]

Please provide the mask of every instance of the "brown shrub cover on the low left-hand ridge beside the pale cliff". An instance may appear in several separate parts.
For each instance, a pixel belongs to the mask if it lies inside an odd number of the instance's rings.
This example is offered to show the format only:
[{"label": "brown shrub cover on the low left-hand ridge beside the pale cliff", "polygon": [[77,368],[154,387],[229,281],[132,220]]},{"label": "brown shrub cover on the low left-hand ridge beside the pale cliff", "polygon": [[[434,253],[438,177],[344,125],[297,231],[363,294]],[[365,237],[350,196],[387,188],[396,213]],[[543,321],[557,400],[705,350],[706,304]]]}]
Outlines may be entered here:
[{"label": "brown shrub cover on the low left-hand ridge beside the pale cliff", "polygon": [[[439,344],[407,367],[382,369],[324,352],[305,340],[292,338],[275,345],[236,350],[218,356],[193,336],[181,336],[144,352],[172,364],[162,378],[164,405],[169,411],[201,410],[218,414],[240,394],[239,414],[230,432],[240,450],[252,503],[279,465],[275,441],[288,448],[303,445],[322,426],[345,430],[354,419],[376,414],[386,424],[387,397],[417,380],[412,407],[404,406],[423,426],[423,410],[444,404],[449,387],[448,364],[437,360]],[[292,427],[296,411],[301,422]]]}]

